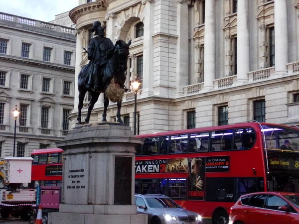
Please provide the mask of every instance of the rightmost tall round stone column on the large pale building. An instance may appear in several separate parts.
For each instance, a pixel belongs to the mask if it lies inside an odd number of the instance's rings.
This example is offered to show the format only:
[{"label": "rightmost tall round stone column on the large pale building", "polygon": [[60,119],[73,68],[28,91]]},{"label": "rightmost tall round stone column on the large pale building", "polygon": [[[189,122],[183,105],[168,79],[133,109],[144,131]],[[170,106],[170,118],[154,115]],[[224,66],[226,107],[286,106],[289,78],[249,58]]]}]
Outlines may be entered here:
[{"label": "rightmost tall round stone column on the large pale building", "polygon": [[287,74],[288,14],[287,0],[274,1],[275,75]]}]

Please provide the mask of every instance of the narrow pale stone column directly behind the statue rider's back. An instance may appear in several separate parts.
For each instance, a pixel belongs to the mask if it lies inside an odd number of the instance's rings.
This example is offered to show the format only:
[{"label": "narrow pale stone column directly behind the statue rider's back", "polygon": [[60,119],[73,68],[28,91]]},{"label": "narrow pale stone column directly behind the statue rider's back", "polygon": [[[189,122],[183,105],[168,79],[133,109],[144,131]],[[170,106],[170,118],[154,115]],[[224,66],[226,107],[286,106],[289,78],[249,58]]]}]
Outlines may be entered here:
[{"label": "narrow pale stone column directly behind the statue rider's back", "polygon": [[73,112],[78,112],[79,104],[79,91],[78,91],[78,75],[81,71],[81,62],[82,62],[82,48],[83,48],[83,38],[82,38],[82,29],[76,29],[75,35],[77,36],[76,42],[76,64],[75,64],[75,90],[74,90],[74,109]]}]

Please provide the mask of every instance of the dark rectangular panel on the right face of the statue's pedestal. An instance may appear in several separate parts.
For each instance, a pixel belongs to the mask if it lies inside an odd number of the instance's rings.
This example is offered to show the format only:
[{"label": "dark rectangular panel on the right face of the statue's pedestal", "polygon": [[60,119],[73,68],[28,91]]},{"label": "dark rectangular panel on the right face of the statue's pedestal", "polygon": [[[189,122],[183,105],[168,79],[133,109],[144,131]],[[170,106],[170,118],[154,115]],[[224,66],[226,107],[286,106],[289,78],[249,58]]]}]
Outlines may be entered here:
[{"label": "dark rectangular panel on the right face of the statue's pedestal", "polygon": [[114,204],[131,205],[132,157],[115,157]]}]

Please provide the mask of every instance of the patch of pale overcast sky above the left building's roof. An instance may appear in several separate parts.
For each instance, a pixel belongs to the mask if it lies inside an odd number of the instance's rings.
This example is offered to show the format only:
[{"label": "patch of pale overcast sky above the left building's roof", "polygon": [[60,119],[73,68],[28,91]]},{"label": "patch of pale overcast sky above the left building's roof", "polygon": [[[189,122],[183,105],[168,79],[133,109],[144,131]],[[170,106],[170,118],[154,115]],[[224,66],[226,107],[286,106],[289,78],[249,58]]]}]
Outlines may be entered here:
[{"label": "patch of pale overcast sky above the left building's roof", "polygon": [[0,12],[49,22],[78,6],[78,0],[0,0]]}]

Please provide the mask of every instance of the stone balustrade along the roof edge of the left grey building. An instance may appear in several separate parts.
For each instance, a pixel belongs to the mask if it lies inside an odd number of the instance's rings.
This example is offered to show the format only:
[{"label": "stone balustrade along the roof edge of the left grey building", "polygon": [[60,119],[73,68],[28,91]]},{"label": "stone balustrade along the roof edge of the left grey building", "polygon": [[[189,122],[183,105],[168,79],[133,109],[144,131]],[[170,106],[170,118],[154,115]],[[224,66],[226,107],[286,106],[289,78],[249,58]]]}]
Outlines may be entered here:
[{"label": "stone balustrade along the roof edge of the left grey building", "polygon": [[35,27],[44,28],[44,29],[48,29],[48,30],[54,30],[56,32],[61,32],[61,33],[68,33],[68,34],[75,33],[74,28],[60,26],[60,25],[56,25],[54,23],[43,22],[43,21],[34,20],[34,19],[26,18],[26,17],[12,15],[12,14],[7,14],[7,13],[3,13],[3,12],[0,12],[0,20],[16,22],[16,23],[25,24],[28,26],[35,26]]}]

